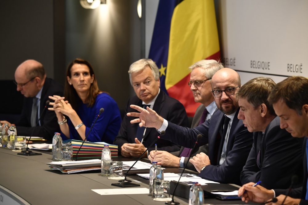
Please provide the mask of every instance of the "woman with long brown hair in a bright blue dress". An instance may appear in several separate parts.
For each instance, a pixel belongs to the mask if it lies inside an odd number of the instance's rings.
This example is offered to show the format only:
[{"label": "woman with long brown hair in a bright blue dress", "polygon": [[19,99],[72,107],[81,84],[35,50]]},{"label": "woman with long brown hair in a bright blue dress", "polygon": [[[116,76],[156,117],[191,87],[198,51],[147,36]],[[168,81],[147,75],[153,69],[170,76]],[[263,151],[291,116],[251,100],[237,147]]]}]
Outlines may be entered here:
[{"label": "woman with long brown hair in a bright blue dress", "polygon": [[[118,105],[106,92],[99,90],[93,68],[88,61],[76,58],[67,69],[64,97],[50,96],[61,132],[69,139],[112,143],[121,125]],[[68,119],[67,119],[67,118]]]}]

